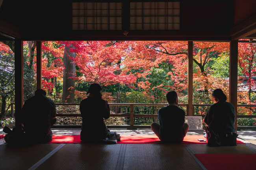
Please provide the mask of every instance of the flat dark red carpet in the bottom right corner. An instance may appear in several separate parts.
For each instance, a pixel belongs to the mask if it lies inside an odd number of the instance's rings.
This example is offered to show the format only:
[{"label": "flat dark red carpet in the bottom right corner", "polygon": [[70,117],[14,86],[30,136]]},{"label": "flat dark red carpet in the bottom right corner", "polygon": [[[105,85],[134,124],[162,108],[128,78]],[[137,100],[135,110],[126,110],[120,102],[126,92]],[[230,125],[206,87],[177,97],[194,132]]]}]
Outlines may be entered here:
[{"label": "flat dark red carpet in the bottom right corner", "polygon": [[256,154],[195,154],[208,170],[256,170]]}]

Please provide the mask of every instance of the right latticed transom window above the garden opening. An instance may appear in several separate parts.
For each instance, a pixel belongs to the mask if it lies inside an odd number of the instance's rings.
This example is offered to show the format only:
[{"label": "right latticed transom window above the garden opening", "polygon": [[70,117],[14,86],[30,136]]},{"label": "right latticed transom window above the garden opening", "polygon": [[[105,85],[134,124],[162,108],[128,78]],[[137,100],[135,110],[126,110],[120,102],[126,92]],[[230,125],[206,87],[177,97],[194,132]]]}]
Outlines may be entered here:
[{"label": "right latticed transom window above the garden opening", "polygon": [[180,29],[180,2],[131,2],[130,29]]}]

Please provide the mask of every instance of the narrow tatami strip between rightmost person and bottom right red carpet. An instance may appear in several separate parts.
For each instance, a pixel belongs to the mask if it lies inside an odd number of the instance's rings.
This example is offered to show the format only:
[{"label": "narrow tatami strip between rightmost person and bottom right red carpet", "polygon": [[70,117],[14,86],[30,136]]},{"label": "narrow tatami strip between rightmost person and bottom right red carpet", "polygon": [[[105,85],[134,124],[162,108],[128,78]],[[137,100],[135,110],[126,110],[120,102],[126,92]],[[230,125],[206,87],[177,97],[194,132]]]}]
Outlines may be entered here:
[{"label": "narrow tatami strip between rightmost person and bottom right red carpet", "polygon": [[254,150],[238,144],[237,146],[209,147],[206,144],[188,144],[194,154],[256,154]]}]

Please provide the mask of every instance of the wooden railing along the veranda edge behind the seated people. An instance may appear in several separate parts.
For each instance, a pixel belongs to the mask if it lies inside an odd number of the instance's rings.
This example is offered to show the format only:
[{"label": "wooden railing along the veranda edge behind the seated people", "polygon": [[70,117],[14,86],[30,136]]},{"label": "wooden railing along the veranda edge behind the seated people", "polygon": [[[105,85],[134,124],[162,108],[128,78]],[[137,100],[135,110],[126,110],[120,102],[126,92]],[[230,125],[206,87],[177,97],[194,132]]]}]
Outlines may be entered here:
[{"label": "wooden railing along the veranda edge behind the seated people", "polygon": [[[57,106],[79,106],[78,103],[56,103]],[[158,117],[156,114],[134,114],[134,106],[156,106],[164,107],[168,104],[148,104],[148,103],[109,103],[109,106],[129,106],[130,113],[110,114],[110,117],[130,117],[130,126],[134,126],[134,117]],[[179,104],[179,106],[186,106],[186,114],[188,114],[188,104]],[[193,116],[202,116],[195,114],[196,106],[211,106],[211,104],[193,104]],[[238,104],[237,107],[256,107],[256,104]],[[56,114],[57,117],[80,117],[81,114]],[[256,115],[237,115],[237,118],[254,118]],[[72,126],[72,125],[70,125]]]}]

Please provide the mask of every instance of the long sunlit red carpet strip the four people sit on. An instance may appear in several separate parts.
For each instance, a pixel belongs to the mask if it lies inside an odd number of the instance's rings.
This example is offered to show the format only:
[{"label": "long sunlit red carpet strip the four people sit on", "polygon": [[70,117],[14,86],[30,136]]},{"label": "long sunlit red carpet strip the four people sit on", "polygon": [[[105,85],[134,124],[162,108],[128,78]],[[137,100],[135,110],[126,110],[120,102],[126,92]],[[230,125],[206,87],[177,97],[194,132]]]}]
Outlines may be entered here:
[{"label": "long sunlit red carpet strip the four people sit on", "polygon": [[[199,142],[197,139],[204,139],[203,135],[187,135],[184,138],[185,144],[206,144]],[[53,135],[50,143],[81,143],[80,135]],[[156,135],[121,135],[120,144],[143,144],[143,143],[160,143]],[[237,140],[237,144],[244,144]]]}]

